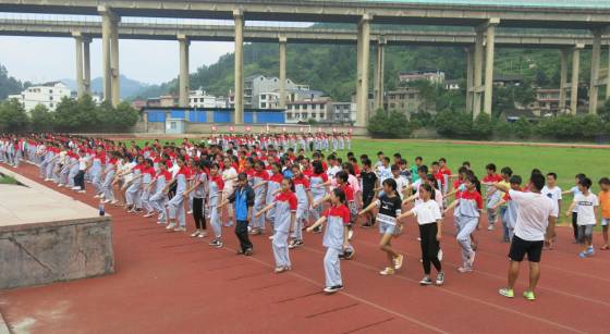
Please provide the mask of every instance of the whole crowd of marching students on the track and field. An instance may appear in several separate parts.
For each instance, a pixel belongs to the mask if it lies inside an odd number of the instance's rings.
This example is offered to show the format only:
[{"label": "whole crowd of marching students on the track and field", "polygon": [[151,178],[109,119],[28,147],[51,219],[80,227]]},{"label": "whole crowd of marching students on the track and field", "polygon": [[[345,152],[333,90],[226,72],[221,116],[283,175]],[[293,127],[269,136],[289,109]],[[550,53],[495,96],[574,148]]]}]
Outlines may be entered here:
[{"label": "whole crowd of marching students on the track and field", "polygon": [[[577,256],[595,255],[593,227],[598,222],[600,249],[609,248],[608,177],[598,181],[598,195],[585,174],[575,175],[574,187],[563,191],[553,172],[535,169],[520,176],[509,166],[498,173],[489,163],[485,175],[476,175],[467,161],[452,173],[444,158],[428,168],[422,157],[408,164],[400,153],[392,159],[381,151],[376,158],[356,158],[350,151],[343,159],[335,152],[350,148],[349,136],[321,133],[215,135],[197,144],[185,138],[180,144],[154,140],[143,146],[58,134],[0,135],[0,162],[37,165],[46,182],[156,218],[169,232],[186,232],[186,214],[192,214],[191,236],[208,237],[209,223],[211,247],[223,247],[223,227],[231,225],[240,255],[254,253],[251,236],[269,235],[276,273],[293,268],[290,251],[304,245],[305,231],[324,232],[324,290],[329,294],[343,288],[340,261],[356,253],[352,240],[357,222],[363,228],[377,226],[380,233],[381,275],[403,267],[405,255],[392,242],[405,223],[416,222],[424,271],[419,283],[442,285],[443,222],[455,225],[462,256],[457,272],[468,273],[477,253],[475,232],[487,215],[487,230],[501,227],[502,240],[510,243],[509,282],[499,293],[514,297],[520,263],[527,256],[530,280],[524,297],[529,300],[536,298],[542,248],[556,247],[554,226],[564,195],[573,195],[565,215],[572,220],[574,243],[583,245]],[[258,249],[264,242],[257,244]]]}]

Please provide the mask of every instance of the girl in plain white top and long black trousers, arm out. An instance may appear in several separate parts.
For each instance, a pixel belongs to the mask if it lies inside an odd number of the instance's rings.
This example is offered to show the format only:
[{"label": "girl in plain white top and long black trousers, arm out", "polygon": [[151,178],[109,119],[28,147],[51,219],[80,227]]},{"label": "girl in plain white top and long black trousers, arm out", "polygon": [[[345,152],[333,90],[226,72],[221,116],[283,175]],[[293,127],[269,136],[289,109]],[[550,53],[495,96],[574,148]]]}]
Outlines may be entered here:
[{"label": "girl in plain white top and long black trousers, arm out", "polygon": [[437,270],[435,283],[437,285],[442,285],[444,283],[444,272],[442,271],[438,258],[440,249],[439,243],[442,238],[442,215],[438,202],[431,198],[432,193],[434,190],[430,184],[422,184],[419,186],[419,203],[410,211],[396,217],[396,220],[410,215],[415,215],[417,218],[422,247],[422,265],[424,267],[424,277],[419,281],[420,285],[432,284],[432,280],[430,279],[431,265]]}]

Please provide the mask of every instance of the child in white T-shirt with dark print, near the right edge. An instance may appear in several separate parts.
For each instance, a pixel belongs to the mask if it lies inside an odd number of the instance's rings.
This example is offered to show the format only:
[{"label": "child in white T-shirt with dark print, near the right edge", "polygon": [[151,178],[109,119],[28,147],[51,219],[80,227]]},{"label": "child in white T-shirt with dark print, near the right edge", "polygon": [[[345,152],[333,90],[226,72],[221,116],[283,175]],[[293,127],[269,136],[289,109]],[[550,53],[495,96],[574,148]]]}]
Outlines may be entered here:
[{"label": "child in white T-shirt with dark print, near the right edge", "polygon": [[578,219],[576,223],[578,224],[578,242],[584,245],[583,251],[578,253],[578,257],[582,259],[591,257],[595,253],[593,249],[593,227],[597,224],[596,211],[599,206],[599,201],[597,196],[590,191],[591,185],[593,182],[590,178],[581,178],[578,184],[578,190],[581,190],[581,194],[574,196],[570,209],[565,212],[565,215],[570,217],[572,209],[576,206],[578,207]]}]

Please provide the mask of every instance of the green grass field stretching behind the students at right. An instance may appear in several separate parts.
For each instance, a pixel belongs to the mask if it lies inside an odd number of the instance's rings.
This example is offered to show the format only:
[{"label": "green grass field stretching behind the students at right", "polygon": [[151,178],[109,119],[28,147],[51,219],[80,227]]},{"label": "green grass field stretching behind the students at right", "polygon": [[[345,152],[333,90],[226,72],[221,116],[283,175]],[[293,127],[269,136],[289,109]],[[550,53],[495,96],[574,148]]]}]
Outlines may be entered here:
[{"label": "green grass field stretching behind the students at right", "polygon": [[[181,141],[182,139],[175,139]],[[138,140],[143,145],[146,140]],[[167,141],[166,139],[161,140]],[[505,146],[489,143],[481,144],[452,144],[429,143],[417,140],[374,140],[354,139],[352,151],[358,157],[368,154],[376,161],[377,152],[383,151],[392,158],[400,152],[410,164],[415,157],[423,157],[424,163],[430,166],[432,161],[446,158],[452,172],[456,172],[463,161],[469,161],[473,170],[479,176],[485,174],[485,165],[495,163],[498,172],[503,166],[510,166],[514,174],[526,178],[532,169],[539,169],[542,173],[554,172],[558,174],[558,184],[566,190],[574,185],[574,175],[585,173],[594,183],[593,190],[597,194],[597,182],[602,176],[610,175],[609,149],[571,148],[571,147],[536,147],[536,146]],[[344,156],[346,151],[340,152]],[[571,197],[564,198],[564,210]]]}]

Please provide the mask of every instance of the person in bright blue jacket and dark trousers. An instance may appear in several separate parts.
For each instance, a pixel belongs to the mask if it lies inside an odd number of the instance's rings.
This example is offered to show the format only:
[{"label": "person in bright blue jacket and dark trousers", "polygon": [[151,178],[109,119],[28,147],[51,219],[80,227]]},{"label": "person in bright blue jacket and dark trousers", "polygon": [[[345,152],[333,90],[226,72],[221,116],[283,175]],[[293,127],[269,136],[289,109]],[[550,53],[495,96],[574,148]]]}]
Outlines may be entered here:
[{"label": "person in bright blue jacket and dark trousers", "polygon": [[253,245],[248,237],[248,222],[253,217],[254,207],[254,189],[248,185],[247,174],[240,173],[237,175],[237,182],[235,184],[235,190],[220,203],[219,209],[224,207],[227,203],[233,203],[235,206],[235,235],[240,240],[241,249],[237,250],[237,255],[251,256],[253,252]]}]

